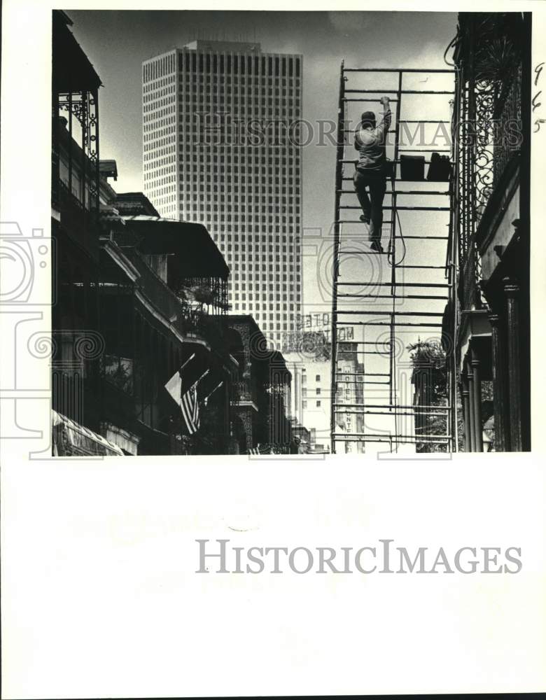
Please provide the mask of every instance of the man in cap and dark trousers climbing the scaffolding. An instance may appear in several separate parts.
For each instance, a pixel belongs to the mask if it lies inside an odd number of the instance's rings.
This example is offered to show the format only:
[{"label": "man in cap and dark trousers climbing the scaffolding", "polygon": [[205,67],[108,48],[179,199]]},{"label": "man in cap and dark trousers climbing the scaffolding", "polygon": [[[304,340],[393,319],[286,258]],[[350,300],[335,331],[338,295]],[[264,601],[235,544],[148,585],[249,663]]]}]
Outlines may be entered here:
[{"label": "man in cap and dark trousers climbing the scaffolding", "polygon": [[[381,97],[379,102],[384,109],[379,126],[375,125],[374,112],[364,112],[356,128],[354,147],[359,156],[354,174],[354,188],[363,211],[360,221],[370,224],[371,248],[377,253],[383,253],[381,226],[387,175],[385,142],[388,127],[391,125],[391,108],[388,97]],[[366,188],[370,190],[369,197]]]}]

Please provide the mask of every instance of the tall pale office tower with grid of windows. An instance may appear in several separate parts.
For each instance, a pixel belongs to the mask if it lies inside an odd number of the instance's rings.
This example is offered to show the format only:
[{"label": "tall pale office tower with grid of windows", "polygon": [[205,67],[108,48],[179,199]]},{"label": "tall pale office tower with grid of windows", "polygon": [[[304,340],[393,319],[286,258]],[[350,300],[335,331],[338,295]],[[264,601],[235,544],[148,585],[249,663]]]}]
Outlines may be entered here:
[{"label": "tall pale office tower with grid of windows", "polygon": [[207,226],[232,311],[280,344],[302,304],[302,57],[194,41],[144,62],[142,99],[146,195]]}]

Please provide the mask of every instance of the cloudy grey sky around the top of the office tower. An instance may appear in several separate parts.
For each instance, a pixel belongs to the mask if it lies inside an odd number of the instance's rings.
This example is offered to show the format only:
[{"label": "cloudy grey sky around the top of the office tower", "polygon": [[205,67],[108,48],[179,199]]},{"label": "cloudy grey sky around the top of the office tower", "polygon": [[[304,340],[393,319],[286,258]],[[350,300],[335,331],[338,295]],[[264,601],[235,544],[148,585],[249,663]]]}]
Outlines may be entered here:
[{"label": "cloudy grey sky around the top of the office tower", "polygon": [[[67,12],[74,22],[74,34],[104,83],[100,95],[101,156],[118,162],[118,192],[143,189],[140,76],[144,59],[196,37],[259,41],[264,52],[301,53],[303,116],[316,125],[318,120],[336,119],[342,59],[346,66],[444,68],[444,50],[456,31],[455,13]],[[351,80],[351,87],[370,87],[358,83],[357,76]],[[371,85],[376,86],[386,89],[395,84],[380,80]],[[407,83],[406,87],[419,85]],[[407,118],[449,116],[447,99],[433,104],[419,98],[414,104],[419,109]],[[351,118],[358,111],[358,105],[353,107]],[[303,165],[303,225],[311,241],[304,248],[304,303],[309,306],[318,301],[313,241],[316,236],[328,235],[333,219],[335,148],[319,145],[316,136],[304,148]]]}]

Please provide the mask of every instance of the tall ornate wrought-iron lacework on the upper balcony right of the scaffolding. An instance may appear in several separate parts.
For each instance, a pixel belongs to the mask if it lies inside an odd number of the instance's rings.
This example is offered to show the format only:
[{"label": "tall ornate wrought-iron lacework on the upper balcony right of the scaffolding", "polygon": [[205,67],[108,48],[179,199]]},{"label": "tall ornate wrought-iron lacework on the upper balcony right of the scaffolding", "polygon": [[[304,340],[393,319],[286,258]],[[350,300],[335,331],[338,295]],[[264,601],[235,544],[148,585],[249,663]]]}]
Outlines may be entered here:
[{"label": "tall ornate wrought-iron lacework on the upper balcony right of the scaffolding", "polygon": [[451,204],[464,309],[484,307],[476,231],[521,146],[521,21],[519,13],[459,15]]}]

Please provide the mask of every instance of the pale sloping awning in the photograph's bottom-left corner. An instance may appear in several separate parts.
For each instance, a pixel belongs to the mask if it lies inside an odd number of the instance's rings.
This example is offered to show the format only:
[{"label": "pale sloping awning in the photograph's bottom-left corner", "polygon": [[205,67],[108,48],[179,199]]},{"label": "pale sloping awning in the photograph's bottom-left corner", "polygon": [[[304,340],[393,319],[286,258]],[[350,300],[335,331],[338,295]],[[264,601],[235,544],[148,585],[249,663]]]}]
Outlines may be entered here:
[{"label": "pale sloping awning in the photograph's bottom-left corner", "polygon": [[51,412],[53,456],[123,456],[117,444],[106,440],[62,413]]}]

